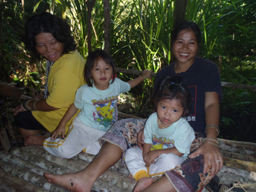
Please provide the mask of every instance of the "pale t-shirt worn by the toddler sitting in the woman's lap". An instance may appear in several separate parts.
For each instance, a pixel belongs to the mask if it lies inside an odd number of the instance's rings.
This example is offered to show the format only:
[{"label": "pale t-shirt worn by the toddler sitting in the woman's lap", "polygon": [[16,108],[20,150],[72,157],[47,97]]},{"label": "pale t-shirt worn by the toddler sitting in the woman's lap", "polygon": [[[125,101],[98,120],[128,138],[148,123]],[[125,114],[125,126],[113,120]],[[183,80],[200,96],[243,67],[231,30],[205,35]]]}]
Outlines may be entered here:
[{"label": "pale t-shirt worn by the toddler sitting in the woman's lap", "polygon": [[185,157],[190,153],[191,143],[194,141],[194,130],[185,118],[180,118],[170,127],[160,129],[156,112],[146,121],[144,134],[144,142],[152,144],[153,150],[176,147]]}]

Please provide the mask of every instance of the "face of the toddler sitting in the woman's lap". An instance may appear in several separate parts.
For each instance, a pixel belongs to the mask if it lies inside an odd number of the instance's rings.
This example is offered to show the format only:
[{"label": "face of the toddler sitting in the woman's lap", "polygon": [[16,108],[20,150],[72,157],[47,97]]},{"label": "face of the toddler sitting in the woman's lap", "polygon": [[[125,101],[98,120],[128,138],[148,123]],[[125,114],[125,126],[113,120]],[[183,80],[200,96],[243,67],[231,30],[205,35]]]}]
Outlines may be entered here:
[{"label": "face of the toddler sitting in the woman's lap", "polygon": [[160,129],[170,127],[183,116],[183,111],[180,101],[175,99],[159,101],[157,107],[158,127]]}]

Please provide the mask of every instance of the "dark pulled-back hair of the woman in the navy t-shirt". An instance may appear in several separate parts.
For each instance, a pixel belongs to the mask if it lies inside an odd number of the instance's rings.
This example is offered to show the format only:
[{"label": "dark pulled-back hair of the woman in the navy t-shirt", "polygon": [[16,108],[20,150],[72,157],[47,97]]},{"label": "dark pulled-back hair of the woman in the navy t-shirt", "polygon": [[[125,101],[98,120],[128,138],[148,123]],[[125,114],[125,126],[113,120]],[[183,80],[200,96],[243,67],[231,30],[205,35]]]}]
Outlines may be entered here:
[{"label": "dark pulled-back hair of the woman in the navy t-shirt", "polygon": [[178,34],[182,31],[188,29],[194,32],[195,37],[197,38],[198,45],[201,44],[201,30],[195,22],[185,21],[177,25],[173,31],[171,31],[171,48],[175,44]]}]

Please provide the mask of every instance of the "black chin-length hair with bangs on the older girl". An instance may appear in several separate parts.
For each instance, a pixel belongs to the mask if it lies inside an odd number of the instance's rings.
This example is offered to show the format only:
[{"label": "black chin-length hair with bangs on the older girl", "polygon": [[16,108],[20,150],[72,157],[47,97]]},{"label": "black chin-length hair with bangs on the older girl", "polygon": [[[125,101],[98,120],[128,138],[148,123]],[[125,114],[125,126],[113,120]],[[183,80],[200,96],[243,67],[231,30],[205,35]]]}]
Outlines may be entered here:
[{"label": "black chin-length hair with bangs on the older girl", "polygon": [[85,65],[84,78],[89,87],[92,87],[92,82],[93,82],[91,81],[91,70],[95,65],[95,63],[97,63],[99,60],[104,61],[106,64],[112,67],[113,78],[111,83],[115,81],[115,65],[114,65],[114,60],[112,56],[108,54],[107,51],[97,49],[95,51],[92,51],[88,55],[86,65]]}]

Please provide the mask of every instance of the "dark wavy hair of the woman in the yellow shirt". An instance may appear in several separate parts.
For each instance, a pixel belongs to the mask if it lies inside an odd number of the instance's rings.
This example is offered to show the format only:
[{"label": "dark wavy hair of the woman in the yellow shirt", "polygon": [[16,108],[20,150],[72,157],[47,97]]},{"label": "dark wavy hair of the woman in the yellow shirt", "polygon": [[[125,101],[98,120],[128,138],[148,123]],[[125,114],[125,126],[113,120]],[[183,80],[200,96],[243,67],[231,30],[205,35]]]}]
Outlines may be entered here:
[{"label": "dark wavy hair of the woman in the yellow shirt", "polygon": [[[63,43],[63,53],[75,51],[75,41],[71,36],[70,26],[67,22],[52,15],[48,12],[43,12],[39,15],[34,15],[25,23],[25,36],[23,38],[24,44],[32,55],[35,55],[39,60],[40,54],[36,50],[35,36],[40,33],[51,33],[52,36],[58,41]],[[62,53],[62,54],[63,54]]]}]

